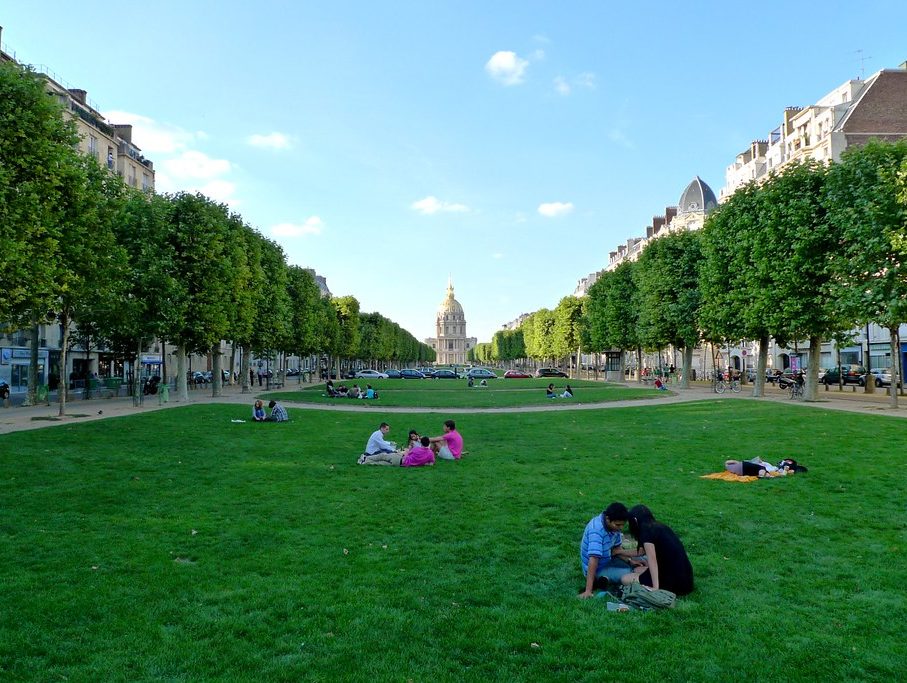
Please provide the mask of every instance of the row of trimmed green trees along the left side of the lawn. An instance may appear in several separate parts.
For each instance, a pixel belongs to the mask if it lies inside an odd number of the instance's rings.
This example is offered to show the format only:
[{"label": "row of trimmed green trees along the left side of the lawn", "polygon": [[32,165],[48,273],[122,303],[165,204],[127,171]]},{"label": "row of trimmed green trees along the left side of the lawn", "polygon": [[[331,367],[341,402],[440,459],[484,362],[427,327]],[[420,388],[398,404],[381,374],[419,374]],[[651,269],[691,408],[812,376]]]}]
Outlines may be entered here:
[{"label": "row of trimmed green trees along the left side of the lawn", "polygon": [[72,324],[126,359],[154,339],[175,345],[183,399],[190,353],[212,354],[220,393],[221,340],[245,351],[244,383],[252,354],[434,359],[396,323],[361,313],[354,297],[322,297],[311,271],[288,265],[279,245],[225,205],[127,188],[77,141],[41,78],[0,64],[0,321],[34,331],[31,400],[37,326],[52,321],[62,326],[64,369]]}]

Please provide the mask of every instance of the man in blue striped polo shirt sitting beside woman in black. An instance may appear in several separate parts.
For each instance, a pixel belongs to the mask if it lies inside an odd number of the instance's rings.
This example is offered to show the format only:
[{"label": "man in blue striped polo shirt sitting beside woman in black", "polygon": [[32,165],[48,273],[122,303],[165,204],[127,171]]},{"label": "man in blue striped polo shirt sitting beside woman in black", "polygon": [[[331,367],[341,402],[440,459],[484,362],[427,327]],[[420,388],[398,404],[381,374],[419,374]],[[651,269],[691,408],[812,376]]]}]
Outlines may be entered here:
[{"label": "man in blue striped polo shirt sitting beside woman in black", "polygon": [[[624,574],[630,574],[633,568],[629,558],[637,557],[639,552],[631,552],[621,547],[621,531],[629,518],[627,506],[623,503],[611,503],[600,515],[593,517],[586,525],[583,540],[579,546],[580,562],[586,577],[586,590],[580,598],[591,598],[596,580],[605,583],[620,583]],[[601,584],[602,582],[599,582]]]}]

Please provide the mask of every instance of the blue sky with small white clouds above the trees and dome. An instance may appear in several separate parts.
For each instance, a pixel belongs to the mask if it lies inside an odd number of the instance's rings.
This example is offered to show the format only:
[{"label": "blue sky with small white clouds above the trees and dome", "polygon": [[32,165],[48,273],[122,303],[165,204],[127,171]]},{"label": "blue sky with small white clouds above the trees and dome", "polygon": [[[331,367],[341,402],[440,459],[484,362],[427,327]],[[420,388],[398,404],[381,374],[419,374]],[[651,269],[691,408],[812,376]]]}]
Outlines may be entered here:
[{"label": "blue sky with small white clouds above the trees and dome", "polygon": [[[738,6],[739,5],[739,6]],[[487,341],[701,176],[907,60],[907,3],[4,2],[4,49],[418,338]],[[858,52],[862,50],[862,52]]]}]

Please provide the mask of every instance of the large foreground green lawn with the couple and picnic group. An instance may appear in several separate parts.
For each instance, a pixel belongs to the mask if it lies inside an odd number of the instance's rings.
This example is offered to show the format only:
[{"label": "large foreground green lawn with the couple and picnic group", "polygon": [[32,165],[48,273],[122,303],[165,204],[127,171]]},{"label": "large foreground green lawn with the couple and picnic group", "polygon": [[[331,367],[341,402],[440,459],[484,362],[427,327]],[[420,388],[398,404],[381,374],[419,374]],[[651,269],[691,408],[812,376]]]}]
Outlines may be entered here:
[{"label": "large foreground green lawn with the couple and picnic group", "polygon": [[[200,405],[0,438],[0,679],[897,680],[902,420],[750,401],[457,417],[470,455],[361,467],[441,415]],[[700,479],[727,458],[810,472]],[[580,601],[612,500],[684,540],[660,613]]]}]

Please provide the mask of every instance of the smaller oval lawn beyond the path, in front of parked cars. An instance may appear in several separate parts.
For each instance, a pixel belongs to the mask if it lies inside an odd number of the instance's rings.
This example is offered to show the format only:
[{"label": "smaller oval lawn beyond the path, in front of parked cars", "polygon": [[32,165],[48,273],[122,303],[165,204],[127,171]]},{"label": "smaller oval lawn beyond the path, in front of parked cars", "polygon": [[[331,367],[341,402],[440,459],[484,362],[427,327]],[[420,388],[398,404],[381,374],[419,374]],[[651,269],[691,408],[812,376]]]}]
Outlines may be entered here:
[{"label": "smaller oval lawn beyond the path, in front of parked cars", "polygon": [[[359,380],[344,380],[347,387],[359,383]],[[545,387],[553,383],[558,393],[569,384],[575,391],[573,398],[550,399],[545,396]],[[335,386],[340,386],[335,382]],[[298,391],[281,391],[262,394],[262,398],[274,398],[278,401],[295,401],[300,403],[323,403],[325,405],[355,404],[362,408],[377,409],[381,406],[403,408],[512,408],[522,406],[546,406],[553,402],[563,403],[601,403],[606,401],[626,401],[631,399],[657,399],[666,392],[655,391],[652,387],[626,387],[620,384],[593,382],[588,380],[552,379],[513,379],[490,380],[488,386],[466,385],[466,380],[399,380],[385,379],[370,382],[378,392],[376,401],[353,401],[344,398],[328,398],[324,385],[300,389]]]}]

